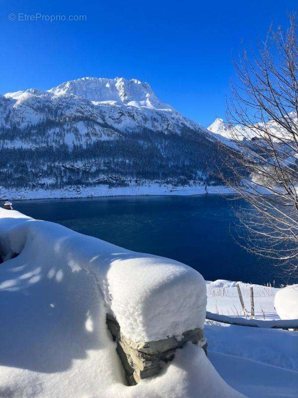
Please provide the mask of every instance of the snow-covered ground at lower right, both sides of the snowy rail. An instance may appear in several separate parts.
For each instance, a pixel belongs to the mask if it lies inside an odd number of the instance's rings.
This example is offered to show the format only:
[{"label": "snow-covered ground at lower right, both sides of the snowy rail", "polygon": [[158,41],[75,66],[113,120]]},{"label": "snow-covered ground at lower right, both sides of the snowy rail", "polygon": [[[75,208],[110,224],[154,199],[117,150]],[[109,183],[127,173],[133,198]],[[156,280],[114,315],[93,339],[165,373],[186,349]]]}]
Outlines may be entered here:
[{"label": "snow-covered ground at lower right, both sides of the snowy rail", "polygon": [[[249,284],[239,282],[250,317]],[[253,285],[255,318],[280,319],[280,289]],[[207,311],[244,317],[236,282],[207,282]],[[298,397],[298,332],[206,321],[209,359],[224,380],[247,397]]]}]

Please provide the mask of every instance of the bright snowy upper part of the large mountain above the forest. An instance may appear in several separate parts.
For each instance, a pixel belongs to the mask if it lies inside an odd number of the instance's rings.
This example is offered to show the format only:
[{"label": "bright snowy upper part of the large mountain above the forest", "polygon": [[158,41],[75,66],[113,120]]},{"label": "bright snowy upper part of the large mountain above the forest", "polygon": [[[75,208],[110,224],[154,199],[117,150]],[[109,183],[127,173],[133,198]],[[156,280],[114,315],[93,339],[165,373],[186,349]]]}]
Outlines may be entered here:
[{"label": "bright snowy upper part of the large mountain above the forest", "polygon": [[[136,120],[136,118],[138,123],[142,122],[143,117],[141,114],[143,112],[148,115],[153,112],[154,116],[160,119],[158,111],[161,111],[163,112],[161,113],[162,115],[173,119],[175,121],[174,124],[178,122],[180,127],[185,124],[192,128],[196,127],[204,130],[198,123],[187,119],[167,103],[158,100],[148,83],[142,83],[136,79],[127,81],[124,78],[87,77],[63,83],[48,91],[28,89],[26,91],[6,93],[2,98],[3,102],[6,102],[6,112],[3,116],[5,117],[10,110],[9,119],[12,118],[13,122],[20,125],[20,127],[25,127],[29,123],[35,124],[38,119],[42,120],[44,112],[41,112],[41,105],[43,105],[47,106],[47,108],[58,106],[64,114],[81,115],[83,113],[96,117],[99,121],[103,121],[103,116],[108,116],[110,121],[115,120],[115,118],[118,119],[119,116],[117,117],[117,114],[119,114],[119,109],[121,109],[121,112],[126,113],[126,118],[130,119],[130,122],[128,122],[122,117],[123,128],[133,128],[134,123],[132,121]],[[148,109],[147,112],[146,109]],[[130,112],[133,113],[131,114]],[[9,125],[9,119],[2,125]],[[118,121],[117,127],[121,128],[121,124],[119,125]],[[145,125],[149,128],[153,127],[152,123],[146,123]]]}]

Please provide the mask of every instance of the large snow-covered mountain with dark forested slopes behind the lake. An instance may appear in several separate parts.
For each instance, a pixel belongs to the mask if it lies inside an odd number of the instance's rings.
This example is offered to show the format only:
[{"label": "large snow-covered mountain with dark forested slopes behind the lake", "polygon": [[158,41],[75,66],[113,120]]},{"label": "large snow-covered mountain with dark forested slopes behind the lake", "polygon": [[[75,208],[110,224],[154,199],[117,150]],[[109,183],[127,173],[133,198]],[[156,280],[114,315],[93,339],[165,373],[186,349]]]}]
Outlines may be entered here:
[{"label": "large snow-covered mountain with dark forested slopes behind the lake", "polygon": [[217,136],[148,83],[82,78],[0,96],[0,186],[220,184]]}]

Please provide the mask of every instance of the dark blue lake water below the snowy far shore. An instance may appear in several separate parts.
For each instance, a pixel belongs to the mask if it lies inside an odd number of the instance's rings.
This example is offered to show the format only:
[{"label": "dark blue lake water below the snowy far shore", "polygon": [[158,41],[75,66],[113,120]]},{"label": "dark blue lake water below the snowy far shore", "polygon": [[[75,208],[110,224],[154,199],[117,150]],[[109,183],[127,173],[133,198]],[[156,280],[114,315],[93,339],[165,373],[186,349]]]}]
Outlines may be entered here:
[{"label": "dark blue lake water below the snowy far shore", "polygon": [[271,260],[234,242],[229,229],[241,204],[204,195],[15,201],[14,208],[131,250],[179,260],[206,280],[288,282]]}]

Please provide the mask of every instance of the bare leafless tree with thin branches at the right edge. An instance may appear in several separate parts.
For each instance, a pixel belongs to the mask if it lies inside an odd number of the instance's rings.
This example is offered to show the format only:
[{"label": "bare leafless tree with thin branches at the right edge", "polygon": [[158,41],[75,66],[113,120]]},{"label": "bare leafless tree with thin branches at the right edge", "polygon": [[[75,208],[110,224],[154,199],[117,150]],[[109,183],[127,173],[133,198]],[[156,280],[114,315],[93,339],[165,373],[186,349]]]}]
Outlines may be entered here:
[{"label": "bare leafless tree with thin branches at the right edge", "polygon": [[250,206],[241,213],[245,247],[298,272],[298,45],[295,18],[287,32],[269,30],[257,55],[234,62],[222,175]]}]

